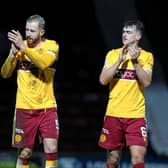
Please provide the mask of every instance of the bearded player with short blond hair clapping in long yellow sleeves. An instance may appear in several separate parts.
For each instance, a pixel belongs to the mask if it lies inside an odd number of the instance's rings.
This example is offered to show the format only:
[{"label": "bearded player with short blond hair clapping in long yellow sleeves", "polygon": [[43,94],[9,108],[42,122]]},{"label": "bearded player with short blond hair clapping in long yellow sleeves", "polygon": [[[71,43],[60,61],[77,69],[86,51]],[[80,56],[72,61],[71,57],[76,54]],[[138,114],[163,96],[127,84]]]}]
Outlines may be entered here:
[{"label": "bearded player with short blond hair clapping in long yellow sleeves", "polygon": [[43,38],[45,20],[40,15],[26,20],[25,34],[23,40],[19,31],[8,33],[11,49],[1,68],[3,78],[9,78],[17,68],[12,146],[21,151],[16,168],[29,168],[36,135],[43,142],[45,168],[57,168],[59,125],[53,85],[59,45]]}]

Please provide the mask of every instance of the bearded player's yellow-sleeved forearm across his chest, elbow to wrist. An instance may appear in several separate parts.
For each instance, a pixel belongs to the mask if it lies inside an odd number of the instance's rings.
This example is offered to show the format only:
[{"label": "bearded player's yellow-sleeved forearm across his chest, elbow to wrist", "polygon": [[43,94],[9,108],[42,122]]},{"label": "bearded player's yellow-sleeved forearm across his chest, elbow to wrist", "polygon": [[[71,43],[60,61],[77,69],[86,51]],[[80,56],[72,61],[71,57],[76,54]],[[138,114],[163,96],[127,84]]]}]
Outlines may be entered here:
[{"label": "bearded player's yellow-sleeved forearm across his chest, elbow to wrist", "polygon": [[47,51],[44,51],[45,53],[40,53],[40,51],[26,48],[24,52],[29,57],[29,59],[42,70],[51,66],[57,58],[54,53],[48,53]]}]

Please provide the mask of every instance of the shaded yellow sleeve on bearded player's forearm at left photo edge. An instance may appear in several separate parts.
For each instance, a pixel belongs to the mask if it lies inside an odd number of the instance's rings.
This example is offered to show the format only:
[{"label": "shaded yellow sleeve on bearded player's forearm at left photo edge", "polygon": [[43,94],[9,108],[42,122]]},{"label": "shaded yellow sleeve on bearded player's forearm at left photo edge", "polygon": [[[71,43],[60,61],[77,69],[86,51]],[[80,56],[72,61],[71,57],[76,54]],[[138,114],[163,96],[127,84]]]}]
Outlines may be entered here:
[{"label": "shaded yellow sleeve on bearded player's forearm at left photo edge", "polygon": [[16,63],[17,63],[16,57],[9,55],[5,63],[2,65],[1,76],[3,78],[9,78],[16,67]]}]

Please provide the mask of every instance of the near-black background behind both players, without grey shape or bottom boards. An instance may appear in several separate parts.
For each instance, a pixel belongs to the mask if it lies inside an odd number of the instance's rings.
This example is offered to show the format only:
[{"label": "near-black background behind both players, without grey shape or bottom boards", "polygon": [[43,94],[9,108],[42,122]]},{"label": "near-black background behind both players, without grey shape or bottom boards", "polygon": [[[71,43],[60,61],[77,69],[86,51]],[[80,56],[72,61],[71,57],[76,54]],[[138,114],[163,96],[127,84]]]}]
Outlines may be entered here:
[{"label": "near-black background behind both players, without grey shape or bottom boards", "polygon": [[[138,18],[145,25],[141,45],[153,52],[167,74],[167,11],[152,0],[12,1],[0,11],[0,64],[8,55],[7,32],[24,35],[25,20],[32,14],[46,19],[46,37],[60,45],[55,91],[60,120],[60,152],[101,152],[97,142],[106,108],[108,87],[99,84],[107,51],[120,47],[122,23]],[[9,9],[10,8],[10,9]],[[154,68],[155,76],[159,69]],[[167,78],[166,78],[167,82]],[[0,77],[0,150],[11,150],[16,72]]]}]

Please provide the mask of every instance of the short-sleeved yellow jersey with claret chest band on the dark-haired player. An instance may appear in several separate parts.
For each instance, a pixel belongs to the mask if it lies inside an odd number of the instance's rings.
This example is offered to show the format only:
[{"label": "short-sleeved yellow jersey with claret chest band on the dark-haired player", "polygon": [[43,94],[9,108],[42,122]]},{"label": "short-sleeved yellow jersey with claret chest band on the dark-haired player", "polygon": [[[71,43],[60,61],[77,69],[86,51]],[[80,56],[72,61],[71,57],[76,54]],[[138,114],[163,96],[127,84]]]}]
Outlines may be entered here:
[{"label": "short-sleeved yellow jersey with claret chest band on the dark-haired player", "polygon": [[[121,48],[110,50],[104,66],[113,65]],[[153,54],[141,49],[138,62],[144,70],[152,71]],[[140,86],[130,55],[120,64],[114,78],[109,83],[109,100],[106,115],[123,118],[145,117],[144,88]]]}]

